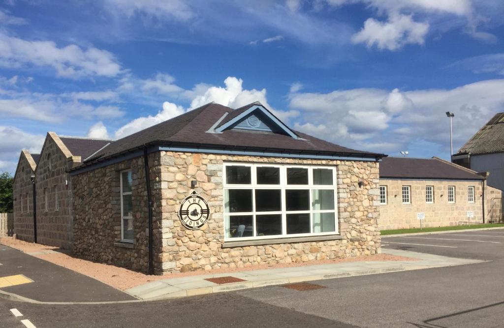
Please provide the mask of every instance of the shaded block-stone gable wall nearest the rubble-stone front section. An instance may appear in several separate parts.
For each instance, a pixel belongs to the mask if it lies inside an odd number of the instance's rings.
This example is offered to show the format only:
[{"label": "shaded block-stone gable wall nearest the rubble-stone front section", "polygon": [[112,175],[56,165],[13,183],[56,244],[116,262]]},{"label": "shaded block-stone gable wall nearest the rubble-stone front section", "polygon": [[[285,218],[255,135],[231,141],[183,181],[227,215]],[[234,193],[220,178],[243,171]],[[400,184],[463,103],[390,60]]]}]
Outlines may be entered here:
[{"label": "shaded block-stone gable wall nearest the rubble-stone front section", "polygon": [[[67,171],[73,165],[71,153],[54,133],[49,132],[35,172],[38,243],[72,248],[72,185]],[[47,206],[44,190],[47,193]]]}]

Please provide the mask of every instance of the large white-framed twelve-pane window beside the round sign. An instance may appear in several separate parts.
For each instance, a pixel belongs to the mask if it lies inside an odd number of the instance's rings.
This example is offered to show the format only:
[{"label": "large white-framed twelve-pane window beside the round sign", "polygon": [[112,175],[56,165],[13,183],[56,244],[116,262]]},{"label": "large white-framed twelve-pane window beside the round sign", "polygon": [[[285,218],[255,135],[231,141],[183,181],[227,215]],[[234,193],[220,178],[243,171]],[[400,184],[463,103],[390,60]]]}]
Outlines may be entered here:
[{"label": "large white-framed twelve-pane window beside the round sign", "polygon": [[333,167],[224,165],[225,239],[338,232]]}]

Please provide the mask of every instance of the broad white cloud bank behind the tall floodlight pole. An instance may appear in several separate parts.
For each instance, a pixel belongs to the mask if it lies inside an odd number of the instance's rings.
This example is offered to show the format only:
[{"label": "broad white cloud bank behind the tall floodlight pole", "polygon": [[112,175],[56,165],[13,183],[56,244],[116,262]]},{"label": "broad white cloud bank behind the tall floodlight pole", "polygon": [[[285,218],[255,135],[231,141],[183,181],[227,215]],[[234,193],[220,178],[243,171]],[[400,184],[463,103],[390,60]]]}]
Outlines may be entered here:
[{"label": "broad white cloud bank behind the tall floodlight pole", "polygon": [[504,79],[450,90],[296,93],[290,96],[290,108],[300,111],[303,118],[295,124],[296,129],[337,144],[374,151],[399,151],[425,142],[449,148],[445,112],[451,111],[455,113],[454,147],[458,149],[492,115],[504,111],[502,90]]}]

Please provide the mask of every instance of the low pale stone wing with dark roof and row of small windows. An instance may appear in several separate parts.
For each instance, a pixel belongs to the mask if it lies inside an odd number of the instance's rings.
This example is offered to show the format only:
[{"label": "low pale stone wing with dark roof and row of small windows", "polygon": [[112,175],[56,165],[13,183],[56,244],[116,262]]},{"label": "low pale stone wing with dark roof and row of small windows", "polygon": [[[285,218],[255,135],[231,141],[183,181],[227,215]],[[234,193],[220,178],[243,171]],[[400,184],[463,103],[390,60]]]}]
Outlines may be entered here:
[{"label": "low pale stone wing with dark roof and row of small windows", "polygon": [[[440,158],[385,157],[380,162],[380,219],[384,229],[449,226],[489,220],[501,191],[487,174]],[[423,215],[422,215],[423,214]]]}]

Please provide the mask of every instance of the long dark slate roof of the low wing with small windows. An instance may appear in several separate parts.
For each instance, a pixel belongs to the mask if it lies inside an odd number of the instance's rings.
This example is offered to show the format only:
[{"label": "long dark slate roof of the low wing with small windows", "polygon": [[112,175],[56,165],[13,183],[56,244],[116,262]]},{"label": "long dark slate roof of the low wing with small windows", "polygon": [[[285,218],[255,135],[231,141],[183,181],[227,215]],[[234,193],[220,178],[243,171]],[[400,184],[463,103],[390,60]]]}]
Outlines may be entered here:
[{"label": "long dark slate roof of the low wing with small windows", "polygon": [[380,162],[380,179],[484,180],[476,172],[443,159],[384,157]]}]

